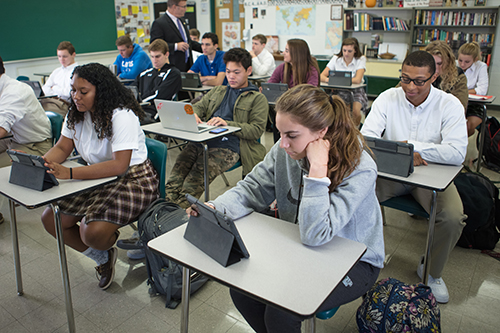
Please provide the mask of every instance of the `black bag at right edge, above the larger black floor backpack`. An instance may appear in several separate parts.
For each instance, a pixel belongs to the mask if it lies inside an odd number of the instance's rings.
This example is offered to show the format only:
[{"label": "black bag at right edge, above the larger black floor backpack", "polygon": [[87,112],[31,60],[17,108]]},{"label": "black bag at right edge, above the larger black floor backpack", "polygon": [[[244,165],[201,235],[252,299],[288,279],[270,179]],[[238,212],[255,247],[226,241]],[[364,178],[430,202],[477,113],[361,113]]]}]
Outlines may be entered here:
[{"label": "black bag at right edge, above the larger black floor backpack", "polygon": [[[481,131],[484,129],[481,128]],[[481,135],[477,136],[476,146],[479,149]],[[481,156],[479,156],[481,159]],[[500,171],[500,123],[495,117],[486,119],[482,159],[488,169]],[[480,161],[478,161],[480,163]]]}]

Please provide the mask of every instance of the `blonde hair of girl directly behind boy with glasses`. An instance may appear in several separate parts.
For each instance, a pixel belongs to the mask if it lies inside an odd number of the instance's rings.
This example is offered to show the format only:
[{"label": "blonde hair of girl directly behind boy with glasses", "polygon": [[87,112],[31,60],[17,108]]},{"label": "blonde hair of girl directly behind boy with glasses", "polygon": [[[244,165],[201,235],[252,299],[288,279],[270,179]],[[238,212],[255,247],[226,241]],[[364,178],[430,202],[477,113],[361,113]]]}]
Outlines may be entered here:
[{"label": "blonde hair of girl directly behind boy with glasses", "polygon": [[432,55],[441,57],[443,64],[441,66],[441,84],[439,89],[450,92],[451,88],[458,82],[458,72],[455,65],[455,55],[450,46],[442,40],[435,40],[425,48],[425,51]]}]

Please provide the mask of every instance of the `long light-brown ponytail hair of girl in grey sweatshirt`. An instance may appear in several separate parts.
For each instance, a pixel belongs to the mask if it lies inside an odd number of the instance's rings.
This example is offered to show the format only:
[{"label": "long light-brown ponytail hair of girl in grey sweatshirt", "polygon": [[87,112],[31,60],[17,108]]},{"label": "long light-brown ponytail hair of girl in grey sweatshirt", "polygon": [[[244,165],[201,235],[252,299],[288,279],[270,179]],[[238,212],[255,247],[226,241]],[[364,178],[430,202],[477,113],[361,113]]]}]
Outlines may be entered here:
[{"label": "long light-brown ponytail hair of girl in grey sweatshirt", "polygon": [[344,101],[335,95],[329,97],[321,88],[301,84],[281,95],[276,112],[289,114],[312,132],[328,127],[323,139],[330,141],[328,178],[333,192],[358,166],[364,145]]}]

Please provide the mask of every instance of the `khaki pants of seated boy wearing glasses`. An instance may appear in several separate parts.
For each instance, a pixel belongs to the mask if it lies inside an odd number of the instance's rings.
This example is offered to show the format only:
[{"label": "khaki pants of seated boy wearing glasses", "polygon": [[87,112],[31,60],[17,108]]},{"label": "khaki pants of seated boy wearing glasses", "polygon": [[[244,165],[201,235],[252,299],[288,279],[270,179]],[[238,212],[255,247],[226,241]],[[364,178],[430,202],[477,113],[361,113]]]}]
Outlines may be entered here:
[{"label": "khaki pants of seated boy wearing glasses", "polygon": [[[408,193],[411,193],[415,200],[430,214],[432,191],[390,180],[377,180],[379,202]],[[437,192],[436,225],[431,245],[429,272],[433,278],[442,276],[450,253],[462,234],[462,229],[465,226],[464,220],[467,218],[463,212],[462,200],[455,184],[452,183],[444,192]]]}]

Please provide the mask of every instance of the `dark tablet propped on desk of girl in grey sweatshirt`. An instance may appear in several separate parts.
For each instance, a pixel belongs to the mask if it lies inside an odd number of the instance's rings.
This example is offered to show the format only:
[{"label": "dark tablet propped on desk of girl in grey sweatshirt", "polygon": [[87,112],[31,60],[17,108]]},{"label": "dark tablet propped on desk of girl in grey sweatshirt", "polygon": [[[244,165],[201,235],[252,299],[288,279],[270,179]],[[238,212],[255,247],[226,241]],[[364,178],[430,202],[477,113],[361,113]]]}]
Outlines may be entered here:
[{"label": "dark tablet propped on desk of girl in grey sweatshirt", "polygon": [[186,199],[196,206],[198,216],[190,216],[184,238],[224,267],[248,258],[243,240],[234,221],[205,205],[190,194]]}]

